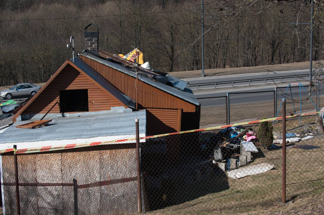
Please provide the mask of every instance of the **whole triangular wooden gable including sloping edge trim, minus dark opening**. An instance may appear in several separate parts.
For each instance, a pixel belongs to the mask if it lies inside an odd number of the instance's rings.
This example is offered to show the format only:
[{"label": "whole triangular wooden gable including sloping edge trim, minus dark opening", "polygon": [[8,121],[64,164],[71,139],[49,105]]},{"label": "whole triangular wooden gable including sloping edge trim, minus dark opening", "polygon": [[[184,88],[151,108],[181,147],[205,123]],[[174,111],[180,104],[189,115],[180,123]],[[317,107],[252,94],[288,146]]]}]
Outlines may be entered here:
[{"label": "whole triangular wooden gable including sloping edge trim, minus dark opening", "polygon": [[[41,90],[13,116],[12,120],[16,121],[19,115],[25,113],[59,113],[59,91],[68,89],[88,89],[89,111],[109,110],[110,107],[115,106],[133,108],[133,101],[107,80],[91,77],[93,72],[85,72],[84,70],[88,69],[86,67],[82,69],[70,60],[66,60]],[[73,81],[73,83],[66,87],[64,81],[67,83]]]}]

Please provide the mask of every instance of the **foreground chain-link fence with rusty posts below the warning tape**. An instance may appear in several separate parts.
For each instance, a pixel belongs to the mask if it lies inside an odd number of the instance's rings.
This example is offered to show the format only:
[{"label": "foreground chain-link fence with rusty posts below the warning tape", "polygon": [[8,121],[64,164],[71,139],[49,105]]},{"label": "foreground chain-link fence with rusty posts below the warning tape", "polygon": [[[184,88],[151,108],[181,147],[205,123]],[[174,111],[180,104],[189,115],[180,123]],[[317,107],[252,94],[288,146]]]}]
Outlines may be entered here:
[{"label": "foreground chain-link fence with rusty posts below the warning tape", "polygon": [[[16,154],[20,211],[186,214],[271,205],[282,198],[283,138],[286,199],[322,188],[322,118],[316,113],[288,116],[283,128],[280,118],[272,118],[141,138],[139,159],[135,136],[113,144]],[[17,214],[14,159],[12,153],[1,156],[4,214]]]}]

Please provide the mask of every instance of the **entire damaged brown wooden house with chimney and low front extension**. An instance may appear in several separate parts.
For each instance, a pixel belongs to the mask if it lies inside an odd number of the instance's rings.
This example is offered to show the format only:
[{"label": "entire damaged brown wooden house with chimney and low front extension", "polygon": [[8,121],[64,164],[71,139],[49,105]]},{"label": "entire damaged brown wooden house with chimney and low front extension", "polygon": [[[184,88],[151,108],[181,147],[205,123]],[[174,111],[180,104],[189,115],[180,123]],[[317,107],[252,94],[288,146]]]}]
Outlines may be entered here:
[{"label": "entire damaged brown wooden house with chimney and low front extension", "polygon": [[[134,137],[135,118],[140,137],[199,128],[200,104],[185,82],[136,68],[118,55],[98,51],[98,44],[89,47],[98,34],[85,36],[86,50],[67,59],[0,134],[2,150],[42,147],[18,156],[22,214],[136,212],[135,141],[69,146]],[[35,129],[16,127],[38,120],[51,122]],[[62,144],[65,150],[48,151]],[[4,214],[17,210],[13,162],[12,152],[1,155]]]}]

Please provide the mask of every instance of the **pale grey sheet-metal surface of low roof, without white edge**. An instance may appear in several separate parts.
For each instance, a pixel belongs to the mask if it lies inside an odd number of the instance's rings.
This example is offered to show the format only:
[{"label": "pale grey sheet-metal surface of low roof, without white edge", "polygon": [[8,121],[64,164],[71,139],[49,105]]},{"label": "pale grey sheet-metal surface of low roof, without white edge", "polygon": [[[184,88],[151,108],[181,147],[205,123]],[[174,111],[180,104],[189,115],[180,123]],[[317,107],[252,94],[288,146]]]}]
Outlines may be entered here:
[{"label": "pale grey sheet-metal surface of low roof, without white edge", "polygon": [[16,125],[35,121],[35,119],[18,121],[0,134],[0,144],[135,135],[135,118],[139,119],[140,133],[145,134],[145,110],[61,117],[52,119],[49,126],[35,129],[16,128]]}]

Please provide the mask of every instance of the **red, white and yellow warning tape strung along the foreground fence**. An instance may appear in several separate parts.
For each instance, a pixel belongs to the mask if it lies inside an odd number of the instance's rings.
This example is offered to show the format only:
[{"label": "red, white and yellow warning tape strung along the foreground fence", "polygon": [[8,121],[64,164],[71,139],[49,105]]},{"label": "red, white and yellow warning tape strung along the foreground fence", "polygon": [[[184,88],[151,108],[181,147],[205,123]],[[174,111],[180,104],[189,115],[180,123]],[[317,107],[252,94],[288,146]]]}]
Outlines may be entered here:
[{"label": "red, white and yellow warning tape strung along the foreground fence", "polygon": [[[286,116],[286,118],[294,118],[294,117],[299,117],[299,116],[314,115],[316,113],[320,113],[320,112],[303,113],[303,114],[300,114],[300,115]],[[169,135],[175,135],[175,134],[187,134],[187,133],[200,132],[200,131],[211,131],[211,130],[228,128],[228,127],[232,127],[232,126],[238,126],[238,125],[257,124],[257,123],[260,123],[260,122],[267,122],[267,121],[273,121],[273,120],[282,120],[282,118],[283,117],[280,116],[280,117],[273,117],[273,118],[261,119],[261,120],[256,120],[256,121],[243,122],[243,123],[235,123],[235,124],[220,125],[220,126],[209,127],[209,128],[194,129],[194,130],[189,130],[189,131],[180,131],[180,132],[174,132],[174,133],[168,133],[168,134],[157,134],[157,135],[153,135],[153,136],[140,137],[140,139],[150,139],[150,138],[155,138],[155,137],[163,137],[163,136],[169,136]],[[50,146],[25,148],[25,149],[18,149],[18,150],[14,150],[13,148],[9,148],[9,149],[0,150],[0,153],[6,153],[6,152],[14,151],[14,153],[16,153],[16,154],[27,154],[27,153],[36,153],[36,152],[46,152],[46,151],[71,149],[71,148],[80,148],[80,147],[87,147],[87,146],[94,146],[94,145],[107,145],[107,144],[114,144],[114,143],[127,142],[127,141],[133,141],[133,140],[136,140],[136,138],[121,139],[121,140],[110,140],[110,141],[103,141],[103,142],[92,142],[92,143],[65,144],[65,145],[54,145],[54,146],[50,145]]]}]

